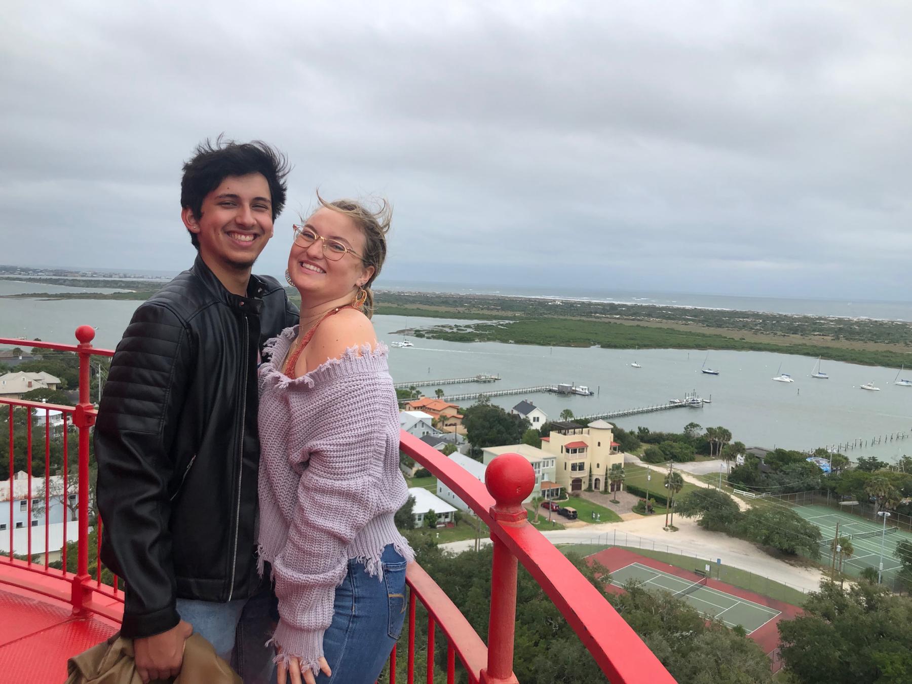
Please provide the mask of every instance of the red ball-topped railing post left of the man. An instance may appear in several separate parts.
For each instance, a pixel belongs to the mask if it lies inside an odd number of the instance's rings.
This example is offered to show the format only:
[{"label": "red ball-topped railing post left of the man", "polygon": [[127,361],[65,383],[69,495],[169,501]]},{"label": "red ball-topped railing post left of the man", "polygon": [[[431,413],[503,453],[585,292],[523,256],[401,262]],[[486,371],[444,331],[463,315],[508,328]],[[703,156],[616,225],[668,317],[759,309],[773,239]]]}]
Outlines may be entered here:
[{"label": "red ball-topped railing post left of the man", "polygon": [[91,596],[88,575],[88,437],[89,429],[95,424],[95,412],[88,396],[89,361],[92,353],[92,339],[95,329],[92,326],[76,328],[79,341],[79,403],[73,411],[73,424],[79,430],[79,541],[76,576],[73,577],[71,602],[74,613],[82,613],[84,605]]}]

